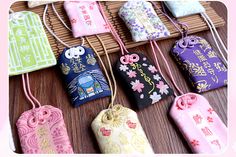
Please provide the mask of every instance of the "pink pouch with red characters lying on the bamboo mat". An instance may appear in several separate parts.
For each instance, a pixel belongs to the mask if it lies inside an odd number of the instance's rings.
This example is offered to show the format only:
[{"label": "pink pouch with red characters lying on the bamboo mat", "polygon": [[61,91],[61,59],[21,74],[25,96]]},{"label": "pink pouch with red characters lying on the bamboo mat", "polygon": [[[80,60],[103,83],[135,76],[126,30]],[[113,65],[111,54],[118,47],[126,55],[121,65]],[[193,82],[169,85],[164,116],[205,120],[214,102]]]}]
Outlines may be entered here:
[{"label": "pink pouch with red characters lying on the bamboo mat", "polygon": [[96,1],[65,1],[64,8],[75,38],[109,32]]}]

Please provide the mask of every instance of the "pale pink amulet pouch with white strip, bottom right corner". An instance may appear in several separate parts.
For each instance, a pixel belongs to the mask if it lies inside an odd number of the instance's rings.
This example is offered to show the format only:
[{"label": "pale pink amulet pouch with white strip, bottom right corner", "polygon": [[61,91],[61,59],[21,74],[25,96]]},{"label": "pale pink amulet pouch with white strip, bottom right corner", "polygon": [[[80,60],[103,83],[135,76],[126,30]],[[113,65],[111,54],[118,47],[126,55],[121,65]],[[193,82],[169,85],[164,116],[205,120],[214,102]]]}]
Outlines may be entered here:
[{"label": "pale pink amulet pouch with white strip, bottom right corner", "polygon": [[226,148],[227,127],[203,96],[187,93],[176,97],[170,116],[193,152],[220,153]]}]

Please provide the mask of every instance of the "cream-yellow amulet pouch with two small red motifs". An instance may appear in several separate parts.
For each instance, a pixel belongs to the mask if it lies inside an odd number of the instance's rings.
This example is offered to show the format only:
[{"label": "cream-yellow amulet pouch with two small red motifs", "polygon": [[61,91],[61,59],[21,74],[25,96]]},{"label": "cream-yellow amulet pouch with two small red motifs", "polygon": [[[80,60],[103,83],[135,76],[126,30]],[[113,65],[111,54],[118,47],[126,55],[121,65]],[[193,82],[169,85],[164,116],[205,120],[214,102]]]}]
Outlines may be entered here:
[{"label": "cream-yellow amulet pouch with two small red motifs", "polygon": [[99,113],[91,124],[102,153],[153,154],[137,114],[121,105]]}]

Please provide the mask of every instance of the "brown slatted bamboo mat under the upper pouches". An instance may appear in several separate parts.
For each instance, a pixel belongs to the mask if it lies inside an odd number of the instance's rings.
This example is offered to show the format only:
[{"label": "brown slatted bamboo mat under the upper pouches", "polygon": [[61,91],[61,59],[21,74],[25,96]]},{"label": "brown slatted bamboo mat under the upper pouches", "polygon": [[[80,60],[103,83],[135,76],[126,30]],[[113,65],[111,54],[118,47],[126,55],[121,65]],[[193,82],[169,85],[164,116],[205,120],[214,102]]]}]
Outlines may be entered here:
[{"label": "brown slatted bamboo mat under the upper pouches", "polygon": [[[124,4],[125,2],[122,1],[105,1],[102,2],[102,6],[105,10],[105,14],[108,17],[109,21],[112,23],[112,25],[115,27],[117,30],[118,34],[120,35],[122,41],[125,43],[127,48],[133,48],[136,46],[140,46],[143,44],[146,44],[147,42],[132,42],[131,34],[129,33],[127,27],[123,23],[123,21],[119,18],[118,16],[118,10],[119,8]],[[160,7],[159,2],[156,2],[158,7]],[[206,9],[206,13],[208,16],[212,19],[213,23],[215,24],[216,27],[221,27],[225,24],[225,21],[216,13],[215,10],[210,6],[210,2],[201,2],[201,4],[204,6]],[[59,13],[59,15],[62,17],[62,19],[70,26],[69,19],[67,18],[66,12],[63,8],[63,2],[56,2],[55,7]],[[44,6],[39,6],[33,9],[29,9],[27,7],[27,2],[21,1],[21,2],[16,2],[11,6],[11,9],[16,11],[23,11],[23,10],[28,10],[28,11],[33,11],[37,14],[40,15],[42,19],[43,15],[43,10]],[[162,20],[162,22],[166,25],[168,30],[171,32],[171,35],[165,39],[168,38],[173,38],[177,37],[180,34],[178,31],[175,30],[174,26],[172,23],[165,17],[163,16],[160,12],[157,11],[158,16]],[[204,20],[200,17],[200,15],[192,15],[188,17],[183,17],[178,19],[180,22],[185,22],[189,26],[189,33],[196,33],[204,30],[208,30],[209,28],[207,27],[206,23]],[[71,45],[71,46],[76,46],[81,43],[81,40],[79,38],[75,39],[73,38],[72,34],[70,31],[68,31],[62,23],[58,20],[56,17],[55,13],[53,12],[51,5],[49,6],[48,14],[47,14],[47,24],[49,27],[55,32],[57,36],[60,37],[61,40],[63,40],[65,43]],[[62,52],[62,50],[65,48],[64,45],[60,44],[57,42],[54,37],[47,32],[49,42],[52,46],[53,52],[55,53],[56,56]],[[113,39],[111,33],[104,33],[100,34],[99,37],[101,37],[102,41],[105,43],[105,46],[108,50],[108,53],[113,53],[119,51],[119,46]],[[97,39],[96,36],[88,36],[89,41],[92,43],[92,45],[95,47],[95,49],[100,53],[103,54],[103,49],[102,45]],[[163,40],[159,39],[159,40]],[[85,46],[88,46],[88,42],[85,41]]]}]

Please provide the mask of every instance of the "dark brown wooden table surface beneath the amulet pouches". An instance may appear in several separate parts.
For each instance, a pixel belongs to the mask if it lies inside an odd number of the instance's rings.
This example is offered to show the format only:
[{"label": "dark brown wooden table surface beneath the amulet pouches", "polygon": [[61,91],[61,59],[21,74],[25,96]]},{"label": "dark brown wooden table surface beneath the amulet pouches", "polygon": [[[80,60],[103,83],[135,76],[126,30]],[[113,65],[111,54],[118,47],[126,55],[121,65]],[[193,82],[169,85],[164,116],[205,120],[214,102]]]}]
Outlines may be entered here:
[{"label": "dark brown wooden table surface beneath the amulet pouches", "polygon": [[[212,2],[212,7],[217,13],[227,20],[227,9],[220,2]],[[224,27],[218,29],[224,43],[227,43],[227,22]],[[197,33],[196,35],[204,37],[216,49],[210,31]],[[168,39],[158,42],[160,48],[165,53],[165,57],[173,71],[174,77],[178,80],[178,85],[184,92],[191,91],[187,80],[183,77],[176,64],[169,55],[169,51],[176,39]],[[151,49],[149,45],[139,46],[130,49],[130,51],[143,52],[150,59]],[[119,53],[110,54],[111,61],[117,61]],[[105,60],[105,57],[102,57]],[[161,68],[165,73],[165,66],[161,62]],[[107,63],[107,62],[105,62]],[[107,64],[106,64],[107,65]],[[168,78],[166,76],[166,78]],[[187,142],[184,140],[177,127],[168,116],[168,111],[174,100],[174,96],[151,105],[143,110],[138,110],[135,104],[129,100],[126,93],[126,85],[119,80],[118,95],[116,103],[123,104],[138,113],[139,120],[146,132],[146,135],[155,151],[155,153],[191,153]],[[32,93],[45,105],[53,105],[63,111],[68,134],[75,153],[100,153],[95,136],[91,130],[90,124],[97,114],[108,106],[109,98],[102,98],[88,102],[78,108],[72,107],[63,84],[62,75],[58,67],[52,67],[30,73],[30,84]],[[172,86],[173,87],[173,86]],[[227,87],[209,91],[204,94],[220,118],[227,124]],[[26,110],[31,109],[22,89],[21,76],[10,77],[9,80],[9,101],[10,101],[10,121],[13,131],[16,152],[22,153],[17,129],[15,123],[19,116]]]}]

